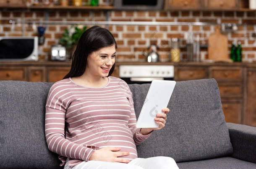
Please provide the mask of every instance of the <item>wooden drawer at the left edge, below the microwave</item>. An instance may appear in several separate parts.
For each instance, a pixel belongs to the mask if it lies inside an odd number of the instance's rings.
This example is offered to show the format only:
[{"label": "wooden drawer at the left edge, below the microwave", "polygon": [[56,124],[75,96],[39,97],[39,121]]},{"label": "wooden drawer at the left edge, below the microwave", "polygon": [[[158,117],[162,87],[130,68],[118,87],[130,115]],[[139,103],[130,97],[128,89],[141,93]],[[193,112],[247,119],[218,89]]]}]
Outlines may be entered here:
[{"label": "wooden drawer at the left edge, below the microwave", "polygon": [[0,80],[1,81],[26,81],[26,70],[25,68],[16,69],[0,69]]}]

